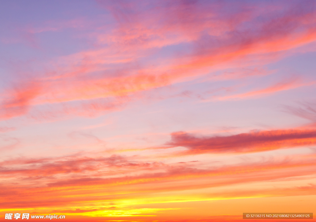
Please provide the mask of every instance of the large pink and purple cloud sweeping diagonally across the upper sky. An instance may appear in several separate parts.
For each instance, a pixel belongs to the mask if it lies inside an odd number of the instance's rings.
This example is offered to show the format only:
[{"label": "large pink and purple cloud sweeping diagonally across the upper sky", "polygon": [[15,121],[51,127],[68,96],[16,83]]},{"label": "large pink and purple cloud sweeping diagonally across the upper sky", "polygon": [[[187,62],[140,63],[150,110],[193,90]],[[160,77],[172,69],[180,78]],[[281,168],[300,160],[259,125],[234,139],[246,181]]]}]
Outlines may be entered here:
[{"label": "large pink and purple cloud sweeping diagonally across the upper sky", "polygon": [[[113,105],[89,100],[120,100],[117,103],[123,107],[126,102],[121,97],[134,95],[135,99],[142,99],[135,94],[200,77],[211,68],[232,68],[236,63],[240,66],[240,62],[248,66],[257,58],[260,65],[270,63],[289,55],[284,51],[316,40],[313,2],[294,1],[286,7],[284,2],[262,3],[264,7],[255,3],[202,4],[199,1],[99,4],[112,13],[116,23],[90,33],[97,39],[98,47],[52,59],[44,65],[46,75],[26,81],[26,86],[19,90],[6,91],[1,104],[2,119],[26,115],[30,106],[62,103],[70,108],[58,110],[60,115],[94,116],[96,109],[110,111]],[[30,32],[77,27],[78,21],[57,22],[56,27],[46,22]],[[176,47],[179,45],[181,49]],[[162,53],[165,50],[167,53]],[[224,73],[222,78],[236,77],[240,78]],[[293,87],[298,86],[293,82],[279,83],[232,97],[244,98]],[[66,104],[73,101],[82,105]],[[94,108],[85,109],[88,106]],[[45,112],[50,115],[49,111]]]}]

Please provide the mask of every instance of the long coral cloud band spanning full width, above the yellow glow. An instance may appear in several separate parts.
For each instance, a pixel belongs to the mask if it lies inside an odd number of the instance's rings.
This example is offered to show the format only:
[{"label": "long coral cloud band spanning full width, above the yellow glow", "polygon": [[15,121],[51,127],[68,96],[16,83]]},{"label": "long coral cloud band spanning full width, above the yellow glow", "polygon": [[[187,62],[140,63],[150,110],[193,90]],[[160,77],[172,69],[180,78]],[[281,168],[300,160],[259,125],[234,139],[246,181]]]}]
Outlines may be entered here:
[{"label": "long coral cloud band spanning full width, above the yellow glow", "polygon": [[[210,177],[219,175],[242,175],[245,181],[258,181],[271,178],[283,178],[286,175],[299,176],[310,174],[311,166],[315,165],[315,155],[299,155],[296,157],[281,159],[262,159],[255,163],[244,161],[242,164],[216,165],[205,168],[208,163],[201,161],[189,161],[187,163],[157,162],[153,160],[137,160],[136,156],[112,155],[109,157],[84,157],[64,156],[55,158],[26,159],[17,158],[0,162],[0,175],[9,183],[11,180],[28,186],[81,186],[100,184],[138,184],[160,183],[163,181],[177,181],[183,178]],[[260,176],[259,171],[282,170],[288,168],[300,168],[294,174],[292,171],[277,171],[272,177],[269,174]],[[256,176],[251,176],[256,172]],[[249,176],[249,175],[250,176]],[[247,176],[248,175],[248,176]],[[239,183],[234,176],[229,183]],[[260,178],[260,179],[259,179]],[[227,179],[226,179],[227,181]],[[234,181],[234,182],[233,182]],[[30,183],[36,182],[36,183]],[[222,182],[214,181],[214,186],[220,186]],[[226,183],[226,182],[225,182]],[[227,182],[228,183],[228,182]],[[217,184],[217,185],[216,185]],[[191,185],[190,185],[191,186]],[[185,185],[186,187],[186,185]],[[155,189],[159,189],[156,187]],[[170,188],[171,189],[171,188]],[[175,187],[172,189],[179,189]]]}]

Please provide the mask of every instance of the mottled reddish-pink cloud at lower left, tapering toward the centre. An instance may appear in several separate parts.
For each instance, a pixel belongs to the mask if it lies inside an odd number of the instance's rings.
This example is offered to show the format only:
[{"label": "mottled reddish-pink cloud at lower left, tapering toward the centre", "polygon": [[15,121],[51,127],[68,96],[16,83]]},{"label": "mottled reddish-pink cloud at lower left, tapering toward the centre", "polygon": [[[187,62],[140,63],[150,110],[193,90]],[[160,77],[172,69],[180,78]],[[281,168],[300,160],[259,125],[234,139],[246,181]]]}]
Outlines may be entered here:
[{"label": "mottled reddish-pink cloud at lower left, tapering toward the centre", "polygon": [[[6,160],[0,162],[0,175],[5,178],[14,176],[22,180],[47,179],[55,177],[108,177],[115,174],[132,174],[135,171],[152,171],[163,169],[164,164],[157,162],[142,162],[119,155],[110,157],[78,157],[65,156],[58,158]],[[88,179],[89,181],[90,179]],[[87,181],[86,181],[87,182]]]}]

